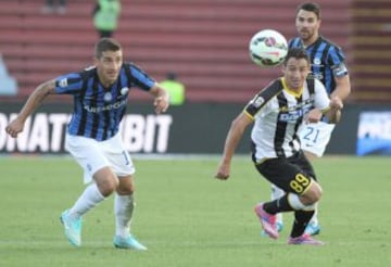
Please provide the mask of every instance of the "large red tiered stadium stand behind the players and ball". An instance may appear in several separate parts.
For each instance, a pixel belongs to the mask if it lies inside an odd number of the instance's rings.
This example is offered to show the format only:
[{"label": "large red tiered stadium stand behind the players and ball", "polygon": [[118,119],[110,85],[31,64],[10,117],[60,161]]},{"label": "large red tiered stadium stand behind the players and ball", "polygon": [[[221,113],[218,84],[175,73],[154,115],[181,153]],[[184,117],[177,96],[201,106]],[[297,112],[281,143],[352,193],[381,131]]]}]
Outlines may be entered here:
[{"label": "large red tiered stadium stand behind the players and ball", "polygon": [[[0,1],[0,49],[21,98],[41,81],[92,62],[98,35],[93,1],[68,1],[67,12],[41,14],[41,0]],[[279,74],[250,62],[248,42],[263,28],[295,35],[297,0],[124,0],[115,33],[125,58],[154,78],[175,71],[189,102],[243,102]],[[321,3],[323,33],[350,55],[350,1]],[[338,12],[336,12],[338,10]],[[346,15],[340,15],[346,14]],[[86,65],[86,66],[87,66]],[[133,98],[147,99],[142,92]]]}]

